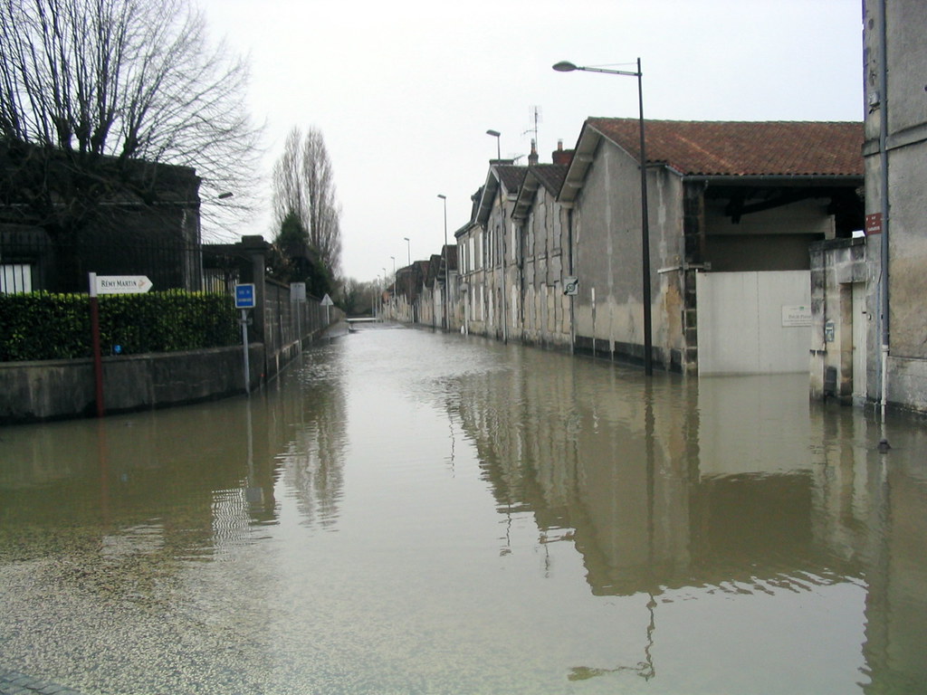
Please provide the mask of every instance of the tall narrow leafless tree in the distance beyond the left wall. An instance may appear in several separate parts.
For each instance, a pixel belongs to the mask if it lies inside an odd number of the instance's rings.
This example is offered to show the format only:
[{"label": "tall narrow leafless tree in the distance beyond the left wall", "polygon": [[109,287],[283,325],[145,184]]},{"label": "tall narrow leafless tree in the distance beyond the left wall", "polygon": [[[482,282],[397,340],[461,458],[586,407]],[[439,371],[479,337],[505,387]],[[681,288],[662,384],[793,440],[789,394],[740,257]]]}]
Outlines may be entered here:
[{"label": "tall narrow leafless tree in the distance beyond the left wall", "polygon": [[302,135],[290,131],[284,152],[273,168],[273,210],[279,230],[296,215],[306,230],[307,243],[337,277],[341,264],[341,207],[337,202],[335,173],[322,132],[310,128]]}]

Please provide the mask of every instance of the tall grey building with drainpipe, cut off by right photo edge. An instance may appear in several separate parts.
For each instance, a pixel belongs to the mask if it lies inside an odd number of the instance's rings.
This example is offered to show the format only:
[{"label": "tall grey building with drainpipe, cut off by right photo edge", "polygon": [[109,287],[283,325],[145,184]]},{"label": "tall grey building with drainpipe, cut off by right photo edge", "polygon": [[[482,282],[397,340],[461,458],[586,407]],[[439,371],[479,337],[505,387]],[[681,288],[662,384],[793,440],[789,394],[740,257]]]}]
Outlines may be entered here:
[{"label": "tall grey building with drainpipe, cut off by right photo edge", "polygon": [[927,12],[864,3],[870,400],[927,411]]}]

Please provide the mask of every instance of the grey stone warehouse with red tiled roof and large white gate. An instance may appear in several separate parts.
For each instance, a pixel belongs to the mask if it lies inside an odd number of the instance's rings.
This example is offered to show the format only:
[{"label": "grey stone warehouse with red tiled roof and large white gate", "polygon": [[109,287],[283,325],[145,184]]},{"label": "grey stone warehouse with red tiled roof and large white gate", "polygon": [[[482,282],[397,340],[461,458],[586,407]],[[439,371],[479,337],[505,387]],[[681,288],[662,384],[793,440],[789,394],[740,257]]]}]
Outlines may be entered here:
[{"label": "grey stone warehouse with red tiled roof and large white gate", "polygon": [[[575,348],[644,357],[639,122],[589,119],[570,210]],[[652,359],[794,373],[811,344],[809,245],[862,226],[861,123],[646,121]]]}]

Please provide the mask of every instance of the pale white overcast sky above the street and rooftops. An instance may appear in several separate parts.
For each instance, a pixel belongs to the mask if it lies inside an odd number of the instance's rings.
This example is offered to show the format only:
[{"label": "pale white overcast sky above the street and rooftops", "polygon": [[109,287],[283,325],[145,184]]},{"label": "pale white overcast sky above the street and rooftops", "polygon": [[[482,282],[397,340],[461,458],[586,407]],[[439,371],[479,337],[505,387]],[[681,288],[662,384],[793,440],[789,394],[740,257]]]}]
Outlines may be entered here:
[{"label": "pale white overcast sky above the street and rooftops", "polygon": [[[230,230],[273,238],[270,169],[293,126],[320,129],[343,211],[342,273],[373,280],[439,253],[470,216],[496,140],[540,161],[589,116],[861,120],[861,0],[199,0],[214,39],[248,55],[266,123],[266,205]],[[524,159],[519,162],[524,163]]]}]

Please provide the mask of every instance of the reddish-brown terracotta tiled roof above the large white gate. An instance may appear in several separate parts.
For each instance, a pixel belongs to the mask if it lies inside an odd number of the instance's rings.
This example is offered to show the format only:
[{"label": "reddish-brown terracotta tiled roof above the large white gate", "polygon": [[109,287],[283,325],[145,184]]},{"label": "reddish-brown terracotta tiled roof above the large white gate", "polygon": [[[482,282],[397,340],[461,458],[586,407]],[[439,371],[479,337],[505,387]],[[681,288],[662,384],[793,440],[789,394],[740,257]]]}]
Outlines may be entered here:
[{"label": "reddish-brown terracotta tiled roof above the large white gate", "polygon": [[[862,176],[862,122],[647,120],[647,161],[686,175]],[[637,119],[587,121],[636,159]]]}]

